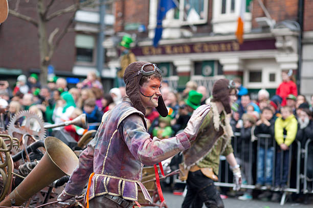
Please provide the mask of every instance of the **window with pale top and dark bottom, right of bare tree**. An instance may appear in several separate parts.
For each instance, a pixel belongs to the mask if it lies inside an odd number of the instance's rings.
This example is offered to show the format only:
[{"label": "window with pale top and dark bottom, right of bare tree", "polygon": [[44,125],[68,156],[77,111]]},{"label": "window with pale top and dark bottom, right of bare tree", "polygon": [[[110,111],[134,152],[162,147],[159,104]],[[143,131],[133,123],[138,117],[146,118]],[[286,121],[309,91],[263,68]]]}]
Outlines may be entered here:
[{"label": "window with pale top and dark bottom, right of bare tree", "polygon": [[93,62],[95,37],[90,35],[76,35],[76,61],[78,62]]}]

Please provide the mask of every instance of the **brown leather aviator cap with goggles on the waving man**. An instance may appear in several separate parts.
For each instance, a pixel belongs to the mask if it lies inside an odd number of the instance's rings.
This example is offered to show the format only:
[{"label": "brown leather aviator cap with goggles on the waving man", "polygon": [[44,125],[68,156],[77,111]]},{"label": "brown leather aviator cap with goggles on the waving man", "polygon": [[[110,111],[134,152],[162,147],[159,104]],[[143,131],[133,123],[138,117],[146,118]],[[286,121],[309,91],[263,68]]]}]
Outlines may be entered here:
[{"label": "brown leather aviator cap with goggles on the waving man", "polygon": [[[160,69],[155,64],[145,61],[137,61],[129,64],[126,67],[123,76],[123,80],[126,84],[126,95],[131,100],[133,106],[137,110],[141,111],[144,115],[146,114],[146,109],[143,107],[141,102],[139,82],[142,76],[149,76],[155,73],[154,72],[155,70],[161,72]],[[158,110],[161,116],[166,117],[168,115],[168,111],[162,96],[159,97],[158,107],[156,109]]]}]

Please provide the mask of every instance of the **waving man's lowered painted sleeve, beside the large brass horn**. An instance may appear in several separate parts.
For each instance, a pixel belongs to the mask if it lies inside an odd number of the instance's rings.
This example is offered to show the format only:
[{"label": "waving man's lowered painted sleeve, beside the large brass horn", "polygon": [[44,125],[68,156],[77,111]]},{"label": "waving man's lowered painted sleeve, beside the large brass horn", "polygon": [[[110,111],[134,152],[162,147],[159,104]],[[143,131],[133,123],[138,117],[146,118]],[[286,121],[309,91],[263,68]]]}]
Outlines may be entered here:
[{"label": "waving man's lowered painted sleeve, beside the large brass horn", "polygon": [[70,196],[80,195],[88,182],[88,178],[94,172],[94,152],[98,138],[95,138],[87,145],[79,155],[79,164],[71,175],[68,184],[65,186],[65,193]]}]

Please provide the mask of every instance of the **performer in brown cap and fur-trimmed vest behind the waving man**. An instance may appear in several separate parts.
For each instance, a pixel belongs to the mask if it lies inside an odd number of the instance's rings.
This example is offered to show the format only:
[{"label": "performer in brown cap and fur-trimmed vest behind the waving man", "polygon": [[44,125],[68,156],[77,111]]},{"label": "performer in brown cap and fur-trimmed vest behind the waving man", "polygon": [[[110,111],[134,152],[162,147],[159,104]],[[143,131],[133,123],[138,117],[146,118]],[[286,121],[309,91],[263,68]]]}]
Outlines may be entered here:
[{"label": "performer in brown cap and fur-trimmed vest behind the waving man", "polygon": [[187,180],[187,194],[182,208],[202,207],[203,203],[211,208],[224,207],[214,186],[214,181],[218,179],[216,175],[221,154],[226,156],[233,170],[234,189],[240,189],[241,172],[230,142],[233,131],[228,117],[232,103],[237,99],[234,83],[227,79],[217,80],[213,84],[212,96],[211,111],[200,126],[191,147],[183,152],[180,178]]}]

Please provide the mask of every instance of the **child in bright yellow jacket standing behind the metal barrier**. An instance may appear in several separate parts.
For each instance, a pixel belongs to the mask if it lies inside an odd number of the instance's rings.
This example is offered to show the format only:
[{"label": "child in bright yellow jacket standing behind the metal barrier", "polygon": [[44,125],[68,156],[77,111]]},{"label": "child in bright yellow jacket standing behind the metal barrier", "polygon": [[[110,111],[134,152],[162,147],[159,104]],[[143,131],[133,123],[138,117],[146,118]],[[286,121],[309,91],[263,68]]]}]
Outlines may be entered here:
[{"label": "child in bright yellow jacket standing behind the metal barrier", "polygon": [[[279,145],[276,148],[276,169],[275,169],[275,186],[287,188],[287,178],[289,172],[289,146],[294,142],[298,121],[295,118],[292,109],[289,107],[281,108],[281,116],[275,121],[275,140]],[[281,156],[283,154],[283,156]],[[281,163],[283,168],[281,170]],[[282,177],[281,177],[282,171]]]}]

